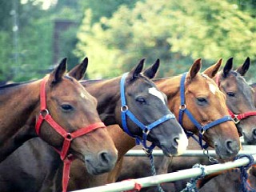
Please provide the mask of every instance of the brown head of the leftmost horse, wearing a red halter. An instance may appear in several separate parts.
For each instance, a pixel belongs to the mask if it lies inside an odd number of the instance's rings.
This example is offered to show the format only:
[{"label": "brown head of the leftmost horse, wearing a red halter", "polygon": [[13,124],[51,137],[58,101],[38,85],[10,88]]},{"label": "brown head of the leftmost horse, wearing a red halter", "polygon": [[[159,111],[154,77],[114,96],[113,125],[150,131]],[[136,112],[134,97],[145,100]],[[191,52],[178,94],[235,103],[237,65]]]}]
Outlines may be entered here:
[{"label": "brown head of the leftmost horse, wearing a red halter", "polygon": [[61,156],[63,159],[68,154],[74,154],[86,163],[90,174],[102,174],[114,167],[117,150],[98,116],[97,100],[78,82],[83,78],[87,64],[86,58],[66,74],[65,58],[50,73],[45,87],[46,98],[41,95],[41,102],[46,100],[46,110],[42,110],[42,104],[41,114],[45,118],[50,114],[58,125],[42,122],[38,134],[62,152],[66,145],[70,145],[66,154],[64,152],[63,157]]}]

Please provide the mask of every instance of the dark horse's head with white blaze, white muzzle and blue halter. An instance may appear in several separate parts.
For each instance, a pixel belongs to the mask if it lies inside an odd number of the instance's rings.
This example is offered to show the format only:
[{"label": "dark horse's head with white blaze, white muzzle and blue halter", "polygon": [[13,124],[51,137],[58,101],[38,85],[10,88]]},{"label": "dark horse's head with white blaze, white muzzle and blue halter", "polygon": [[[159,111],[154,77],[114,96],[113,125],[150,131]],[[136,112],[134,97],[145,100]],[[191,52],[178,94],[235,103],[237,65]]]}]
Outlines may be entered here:
[{"label": "dark horse's head with white blaze, white muzzle and blue halter", "polygon": [[[123,106],[120,101],[122,106],[118,105],[116,108],[119,124],[124,126],[126,123],[129,127],[128,130],[126,129],[128,134],[152,142],[161,148],[167,156],[182,154],[187,146],[186,134],[174,118],[174,114],[166,106],[166,95],[162,94],[150,80],[158,71],[159,60],[156,61],[154,70],[142,73],[144,61],[143,58],[138,62],[138,65],[126,74],[126,78],[123,80],[125,88],[121,100],[125,97],[126,106]],[[126,113],[128,109],[138,121],[130,118]],[[124,115],[123,113],[129,116],[126,118],[126,122],[123,120],[121,122],[120,117]],[[124,127],[122,128],[124,129]]]}]

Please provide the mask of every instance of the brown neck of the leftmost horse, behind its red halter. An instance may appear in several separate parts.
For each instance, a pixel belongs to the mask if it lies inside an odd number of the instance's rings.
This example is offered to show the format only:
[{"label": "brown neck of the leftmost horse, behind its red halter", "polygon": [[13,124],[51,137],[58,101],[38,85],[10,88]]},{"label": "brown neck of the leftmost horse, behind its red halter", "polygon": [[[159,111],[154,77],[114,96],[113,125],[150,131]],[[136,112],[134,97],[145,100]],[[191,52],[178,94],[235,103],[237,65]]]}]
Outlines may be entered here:
[{"label": "brown neck of the leftmost horse, behind its red halter", "polygon": [[[31,118],[31,114],[34,113],[39,103],[39,84],[39,81],[30,82],[0,90],[0,141],[2,145],[9,138],[14,139],[15,134],[20,138],[23,127],[27,129],[30,125],[34,125],[35,115]],[[30,125],[27,125],[28,122]],[[28,134],[27,131],[24,133]]]}]

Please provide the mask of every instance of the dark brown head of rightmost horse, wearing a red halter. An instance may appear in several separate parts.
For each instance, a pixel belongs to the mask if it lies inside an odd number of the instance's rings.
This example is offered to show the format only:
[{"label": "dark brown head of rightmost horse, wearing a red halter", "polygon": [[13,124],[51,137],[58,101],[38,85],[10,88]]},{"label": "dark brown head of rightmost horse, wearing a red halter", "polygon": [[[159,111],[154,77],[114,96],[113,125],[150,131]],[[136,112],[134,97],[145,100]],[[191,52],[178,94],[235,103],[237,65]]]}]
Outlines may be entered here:
[{"label": "dark brown head of rightmost horse, wearing a red halter", "polygon": [[229,58],[223,70],[217,75],[216,81],[222,93],[226,95],[226,106],[243,135],[246,145],[256,144],[256,107],[254,91],[243,78],[250,67],[250,58],[238,67],[233,68],[233,58]]}]

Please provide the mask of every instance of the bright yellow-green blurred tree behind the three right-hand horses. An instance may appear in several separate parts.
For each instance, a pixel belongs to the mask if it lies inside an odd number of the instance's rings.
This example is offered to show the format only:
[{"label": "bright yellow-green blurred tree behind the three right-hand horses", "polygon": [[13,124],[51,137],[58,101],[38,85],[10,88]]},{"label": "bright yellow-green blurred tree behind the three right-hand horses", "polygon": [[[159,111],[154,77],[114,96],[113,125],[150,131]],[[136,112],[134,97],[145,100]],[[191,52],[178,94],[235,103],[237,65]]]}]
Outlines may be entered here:
[{"label": "bright yellow-green blurred tree behind the three right-hand horses", "polygon": [[[244,9],[234,1],[146,0],[133,8],[119,6],[99,22],[91,19],[94,10],[86,10],[75,53],[86,53],[93,66],[109,68],[103,77],[114,75],[114,69],[130,70],[143,57],[148,64],[161,59],[159,77],[188,70],[196,58],[203,58],[203,68],[230,57],[238,66],[247,56],[256,58],[254,12]],[[107,54],[111,58],[103,60]]]}]

